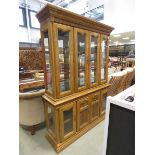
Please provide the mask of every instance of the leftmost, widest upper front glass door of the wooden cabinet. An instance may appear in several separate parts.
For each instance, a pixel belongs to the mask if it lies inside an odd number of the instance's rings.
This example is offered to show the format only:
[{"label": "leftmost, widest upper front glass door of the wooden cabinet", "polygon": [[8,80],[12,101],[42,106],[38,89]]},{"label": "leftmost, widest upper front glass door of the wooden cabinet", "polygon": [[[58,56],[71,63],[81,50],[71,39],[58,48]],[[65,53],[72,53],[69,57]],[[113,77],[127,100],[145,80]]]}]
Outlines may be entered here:
[{"label": "leftmost, widest upper front glass door of the wooden cabinet", "polygon": [[54,23],[57,97],[73,92],[73,28]]}]

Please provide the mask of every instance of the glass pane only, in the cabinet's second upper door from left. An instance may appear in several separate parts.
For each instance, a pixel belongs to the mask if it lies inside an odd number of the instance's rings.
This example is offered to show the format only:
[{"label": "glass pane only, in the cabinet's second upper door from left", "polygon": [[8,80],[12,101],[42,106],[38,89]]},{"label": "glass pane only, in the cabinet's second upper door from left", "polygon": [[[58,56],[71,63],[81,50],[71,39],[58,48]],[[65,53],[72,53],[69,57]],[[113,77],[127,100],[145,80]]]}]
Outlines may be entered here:
[{"label": "glass pane only, in the cabinet's second upper door from left", "polygon": [[85,86],[86,35],[78,33],[78,86]]}]

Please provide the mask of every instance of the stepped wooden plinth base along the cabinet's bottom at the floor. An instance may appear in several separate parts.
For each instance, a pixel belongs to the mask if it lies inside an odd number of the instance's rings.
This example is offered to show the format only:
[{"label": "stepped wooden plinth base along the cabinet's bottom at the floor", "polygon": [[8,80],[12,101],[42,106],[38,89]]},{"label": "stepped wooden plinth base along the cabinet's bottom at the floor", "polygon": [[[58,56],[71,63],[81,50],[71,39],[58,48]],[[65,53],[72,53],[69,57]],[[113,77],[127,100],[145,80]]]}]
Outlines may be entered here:
[{"label": "stepped wooden plinth base along the cabinet's bottom at the floor", "polygon": [[76,141],[78,138],[80,138],[81,136],[83,136],[85,133],[87,133],[90,129],[92,129],[93,127],[95,127],[97,124],[99,124],[101,121],[103,121],[105,118],[105,114],[100,116],[98,119],[96,119],[95,121],[93,121],[90,125],[88,125],[87,127],[83,128],[81,131],[76,132],[72,137],[68,138],[66,141],[64,141],[63,143],[56,143],[56,141],[53,139],[53,137],[50,135],[50,133],[47,131],[46,133],[46,138],[48,139],[48,141],[51,143],[51,145],[54,147],[55,151],[57,153],[61,152],[62,150],[64,150],[67,146],[69,146],[70,144],[72,144],[74,141]]}]

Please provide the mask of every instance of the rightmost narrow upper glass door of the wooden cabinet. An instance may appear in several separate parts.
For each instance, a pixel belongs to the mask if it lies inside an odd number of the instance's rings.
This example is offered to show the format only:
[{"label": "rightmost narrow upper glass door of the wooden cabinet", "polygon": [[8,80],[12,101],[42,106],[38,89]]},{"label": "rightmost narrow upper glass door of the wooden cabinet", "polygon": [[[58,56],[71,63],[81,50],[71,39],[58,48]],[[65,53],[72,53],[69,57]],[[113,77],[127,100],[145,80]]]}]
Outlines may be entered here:
[{"label": "rightmost narrow upper glass door of the wooden cabinet", "polygon": [[108,37],[101,35],[101,52],[100,52],[100,82],[103,83],[107,80],[108,68]]}]

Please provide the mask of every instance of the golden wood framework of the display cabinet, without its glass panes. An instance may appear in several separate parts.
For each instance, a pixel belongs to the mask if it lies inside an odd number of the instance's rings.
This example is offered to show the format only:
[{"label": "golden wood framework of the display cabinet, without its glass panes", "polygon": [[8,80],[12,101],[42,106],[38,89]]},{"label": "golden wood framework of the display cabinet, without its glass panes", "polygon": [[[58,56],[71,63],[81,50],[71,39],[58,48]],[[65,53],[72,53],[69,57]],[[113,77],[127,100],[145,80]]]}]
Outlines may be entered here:
[{"label": "golden wood framework of the display cabinet, without its glass panes", "polygon": [[[52,95],[47,91],[43,95],[43,100],[46,102],[46,137],[55,150],[60,152],[104,119],[105,113],[102,107],[102,98],[104,94],[106,96],[110,86],[107,83],[108,39],[113,28],[53,5],[45,6],[37,14],[37,17],[41,23],[41,28],[44,25],[48,25],[46,29],[48,29],[50,35],[49,46],[50,52],[52,52],[50,59],[52,60],[52,75],[54,76],[52,78]],[[70,90],[65,92],[60,92],[58,29],[69,32]],[[42,31],[43,29],[41,29]],[[81,88],[78,87],[78,32],[86,34],[86,85]],[[94,84],[91,84],[90,79],[91,36],[97,37],[96,82]],[[101,81],[101,41],[103,38],[107,40],[107,57],[105,79]],[[49,130],[47,106],[54,107],[55,135]],[[71,132],[64,132],[64,112],[70,109],[73,112],[73,130]]]}]

